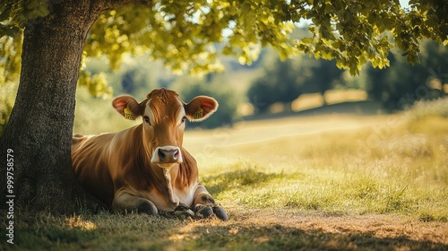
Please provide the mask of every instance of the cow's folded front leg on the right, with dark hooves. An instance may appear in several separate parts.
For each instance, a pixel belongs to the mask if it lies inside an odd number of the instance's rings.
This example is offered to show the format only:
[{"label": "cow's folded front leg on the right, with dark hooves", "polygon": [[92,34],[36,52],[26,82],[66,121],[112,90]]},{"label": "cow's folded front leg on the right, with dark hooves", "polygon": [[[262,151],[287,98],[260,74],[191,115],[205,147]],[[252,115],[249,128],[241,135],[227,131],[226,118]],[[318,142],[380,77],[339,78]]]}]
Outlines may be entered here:
[{"label": "cow's folded front leg on the right, with dark hooves", "polygon": [[215,214],[220,220],[228,221],[227,213],[215,203],[213,197],[202,185],[198,185],[194,192],[194,213],[197,218],[209,218]]}]

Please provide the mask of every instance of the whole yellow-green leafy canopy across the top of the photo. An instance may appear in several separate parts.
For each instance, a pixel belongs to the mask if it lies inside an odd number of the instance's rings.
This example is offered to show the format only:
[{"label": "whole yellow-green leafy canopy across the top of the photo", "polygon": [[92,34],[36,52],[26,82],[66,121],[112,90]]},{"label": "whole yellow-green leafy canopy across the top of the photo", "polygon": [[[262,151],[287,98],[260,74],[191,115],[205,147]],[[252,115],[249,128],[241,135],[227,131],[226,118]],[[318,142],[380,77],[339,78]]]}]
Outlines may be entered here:
[{"label": "whole yellow-green leafy canopy across the top of the photo", "polygon": [[[39,22],[61,1],[2,4],[1,57],[6,78],[17,76],[25,23]],[[303,52],[335,59],[340,68],[358,74],[366,62],[388,66],[393,47],[400,48],[410,63],[417,63],[419,39],[448,44],[446,0],[412,0],[406,10],[398,0],[125,2],[129,4],[118,9],[111,4],[106,8],[111,10],[99,16],[87,38],[86,56],[105,55],[116,66],[124,53],[150,50],[152,57],[164,60],[175,72],[201,74],[221,70],[220,54],[250,64],[260,46],[269,45],[283,59]],[[294,25],[304,19],[313,23],[312,36],[291,38]]]}]

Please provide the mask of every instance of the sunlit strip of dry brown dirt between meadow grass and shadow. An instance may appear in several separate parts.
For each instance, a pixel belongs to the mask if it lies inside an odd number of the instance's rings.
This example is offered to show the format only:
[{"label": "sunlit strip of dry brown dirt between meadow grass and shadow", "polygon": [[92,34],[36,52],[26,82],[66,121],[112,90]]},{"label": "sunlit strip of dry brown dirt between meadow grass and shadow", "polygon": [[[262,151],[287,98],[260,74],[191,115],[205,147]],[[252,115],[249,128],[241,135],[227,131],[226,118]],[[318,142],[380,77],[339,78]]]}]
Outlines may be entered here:
[{"label": "sunlit strip of dry brown dirt between meadow grass and shadow", "polygon": [[448,223],[422,222],[401,215],[326,215],[324,212],[297,212],[289,209],[242,212],[230,209],[233,221],[264,226],[320,231],[325,234],[358,234],[374,238],[406,238],[448,245]]}]

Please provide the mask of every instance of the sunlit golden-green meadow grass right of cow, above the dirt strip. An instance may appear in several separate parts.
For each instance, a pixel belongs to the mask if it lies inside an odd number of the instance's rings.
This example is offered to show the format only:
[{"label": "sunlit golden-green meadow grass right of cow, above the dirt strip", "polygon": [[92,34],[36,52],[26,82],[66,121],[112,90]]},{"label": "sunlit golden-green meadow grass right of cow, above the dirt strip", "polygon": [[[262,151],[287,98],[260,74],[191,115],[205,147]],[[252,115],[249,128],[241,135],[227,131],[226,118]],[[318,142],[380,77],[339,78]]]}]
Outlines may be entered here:
[{"label": "sunlit golden-green meadow grass right of cow, above the dirt strip", "polygon": [[404,117],[356,131],[220,147],[219,155],[245,160],[218,164],[225,171],[203,182],[221,201],[250,208],[387,213],[447,222],[448,117],[443,110],[448,104],[438,100],[425,106],[429,116],[422,116],[418,104]]}]

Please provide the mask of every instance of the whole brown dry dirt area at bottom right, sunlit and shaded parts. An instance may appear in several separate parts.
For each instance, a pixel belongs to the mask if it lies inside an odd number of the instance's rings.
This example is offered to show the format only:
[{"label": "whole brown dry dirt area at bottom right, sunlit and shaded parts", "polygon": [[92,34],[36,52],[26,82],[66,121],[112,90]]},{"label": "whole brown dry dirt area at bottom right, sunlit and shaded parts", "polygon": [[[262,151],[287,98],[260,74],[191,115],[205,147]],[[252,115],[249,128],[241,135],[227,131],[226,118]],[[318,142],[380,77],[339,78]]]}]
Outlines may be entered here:
[{"label": "whole brown dry dirt area at bottom right, sunlit and shaded parts", "polygon": [[[228,208],[230,221],[190,222],[169,247],[199,250],[448,250],[447,223],[386,215]],[[168,248],[168,249],[170,249]]]}]

